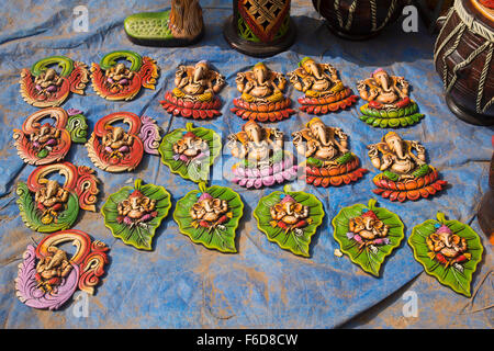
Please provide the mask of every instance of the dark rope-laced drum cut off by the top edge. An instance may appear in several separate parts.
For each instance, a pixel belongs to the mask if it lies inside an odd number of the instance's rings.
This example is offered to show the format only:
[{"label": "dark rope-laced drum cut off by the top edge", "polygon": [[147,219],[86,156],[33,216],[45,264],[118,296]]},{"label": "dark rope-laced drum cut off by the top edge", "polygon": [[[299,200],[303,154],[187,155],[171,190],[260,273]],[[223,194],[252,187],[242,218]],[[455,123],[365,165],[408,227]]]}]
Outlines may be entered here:
[{"label": "dark rope-laced drum cut off by the top edge", "polygon": [[312,0],[329,30],[347,39],[368,39],[401,14],[404,0]]}]

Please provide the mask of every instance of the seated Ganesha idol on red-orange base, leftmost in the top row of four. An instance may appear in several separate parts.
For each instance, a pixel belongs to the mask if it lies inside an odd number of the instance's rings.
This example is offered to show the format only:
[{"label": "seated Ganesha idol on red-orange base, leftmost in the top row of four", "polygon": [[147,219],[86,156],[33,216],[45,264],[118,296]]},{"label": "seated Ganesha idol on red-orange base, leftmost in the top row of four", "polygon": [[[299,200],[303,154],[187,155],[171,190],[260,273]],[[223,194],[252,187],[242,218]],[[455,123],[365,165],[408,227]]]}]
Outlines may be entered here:
[{"label": "seated Ganesha idol on red-orange base, leftmost in the top row of four", "polygon": [[212,118],[222,113],[221,100],[216,94],[225,84],[225,77],[211,69],[202,60],[195,66],[180,65],[175,73],[176,88],[165,94],[162,107],[182,117]]}]

